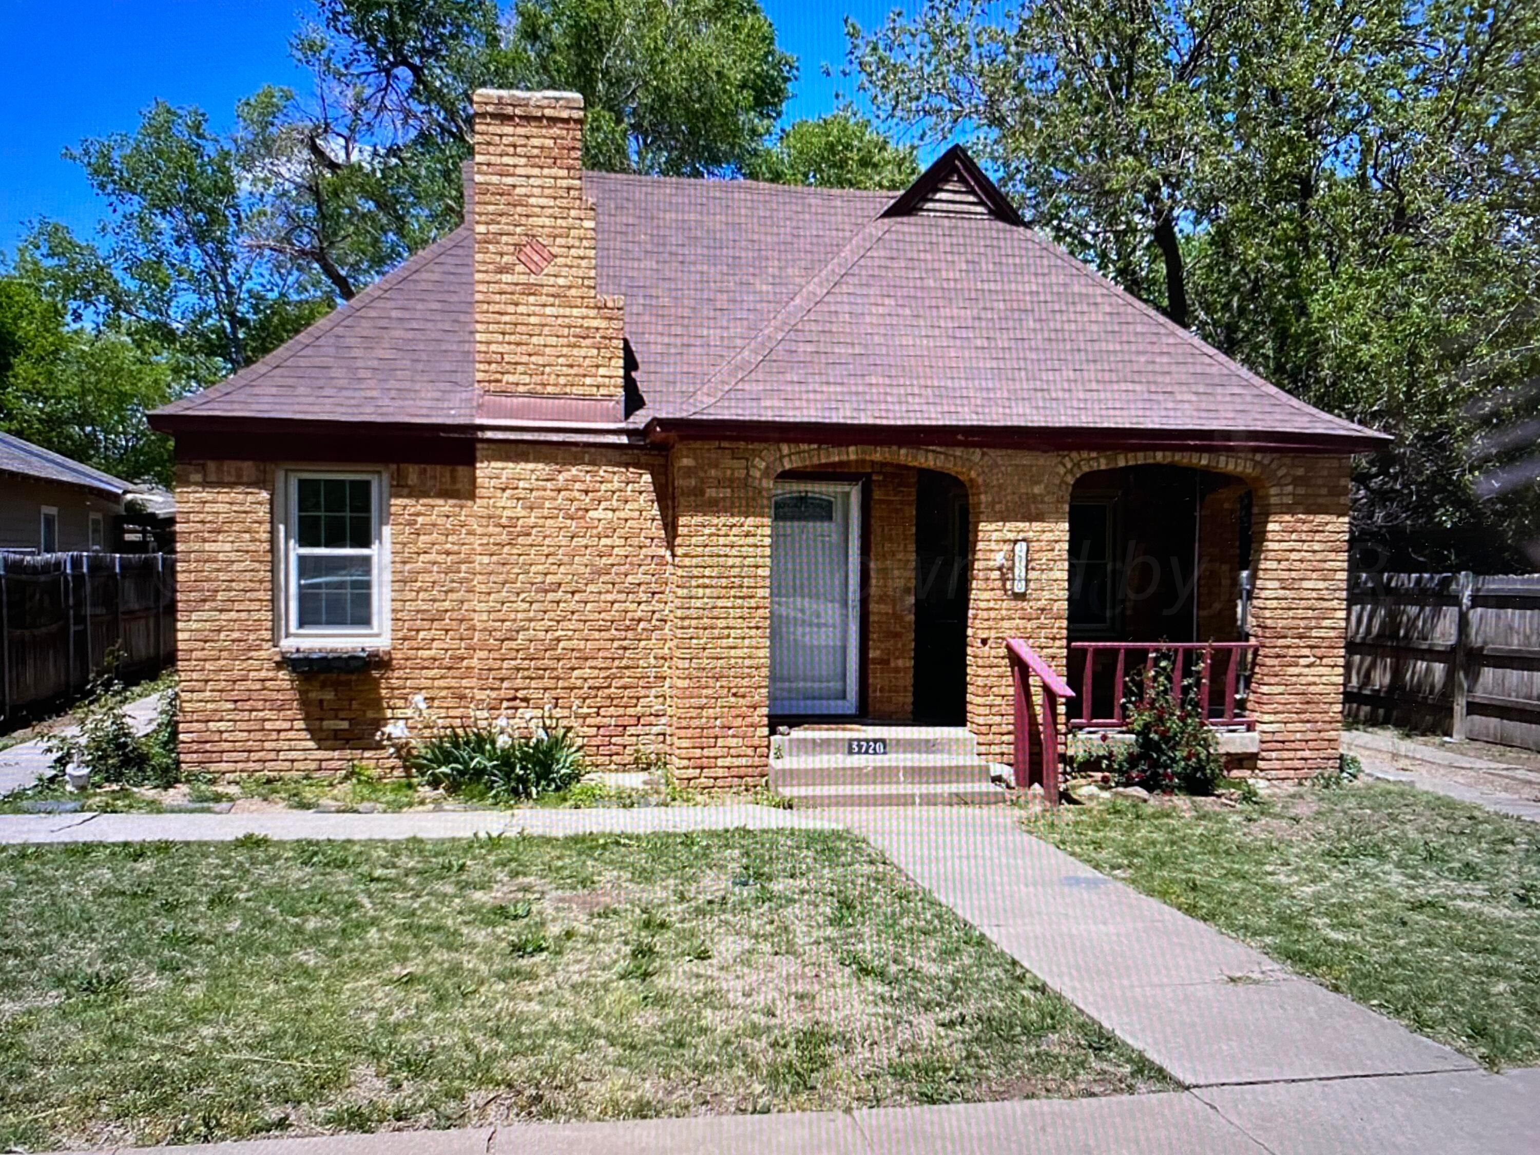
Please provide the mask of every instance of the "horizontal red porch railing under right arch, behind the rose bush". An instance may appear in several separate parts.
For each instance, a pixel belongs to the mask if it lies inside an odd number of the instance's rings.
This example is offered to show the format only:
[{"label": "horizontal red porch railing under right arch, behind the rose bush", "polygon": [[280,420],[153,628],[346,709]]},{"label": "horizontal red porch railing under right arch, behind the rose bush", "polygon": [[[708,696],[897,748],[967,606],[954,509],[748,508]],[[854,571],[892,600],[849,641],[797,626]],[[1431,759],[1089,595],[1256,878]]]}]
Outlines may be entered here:
[{"label": "horizontal red porch railing under right arch, behind the rose bush", "polygon": [[[1169,662],[1173,701],[1186,695],[1209,725],[1255,730],[1257,719],[1238,707],[1255,654],[1257,642],[1070,642],[1070,679],[1080,682],[1070,728],[1123,725],[1130,684],[1135,701],[1149,701],[1157,664]],[[1098,704],[1106,704],[1106,713]]]}]

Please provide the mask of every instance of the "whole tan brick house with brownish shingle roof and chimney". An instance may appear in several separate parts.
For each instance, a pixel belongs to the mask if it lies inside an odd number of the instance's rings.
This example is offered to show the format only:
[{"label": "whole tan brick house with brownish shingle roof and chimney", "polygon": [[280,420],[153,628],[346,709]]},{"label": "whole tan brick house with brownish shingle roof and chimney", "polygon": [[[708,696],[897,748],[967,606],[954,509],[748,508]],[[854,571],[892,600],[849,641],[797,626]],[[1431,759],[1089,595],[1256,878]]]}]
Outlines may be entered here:
[{"label": "whole tan brick house with brownish shingle roof and chimney", "polygon": [[581,172],[581,131],[579,97],[477,92],[465,228],[152,416],[188,768],[340,768],[417,693],[551,705],[695,784],[762,781],[815,719],[1009,761],[1013,638],[1083,722],[1147,642],[1220,642],[1186,671],[1257,772],[1335,761],[1380,434],[1040,239],[961,149],[892,196]]}]

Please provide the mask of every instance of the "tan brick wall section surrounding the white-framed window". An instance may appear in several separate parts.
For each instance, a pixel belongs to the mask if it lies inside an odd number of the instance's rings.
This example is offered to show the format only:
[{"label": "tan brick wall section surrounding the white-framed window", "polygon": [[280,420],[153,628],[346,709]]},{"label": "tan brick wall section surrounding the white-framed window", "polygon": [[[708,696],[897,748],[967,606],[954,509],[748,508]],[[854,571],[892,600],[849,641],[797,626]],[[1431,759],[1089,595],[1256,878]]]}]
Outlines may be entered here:
[{"label": "tan brick wall section surrounding the white-framed window", "polygon": [[376,732],[413,693],[457,698],[471,653],[474,573],[453,542],[471,531],[474,474],[434,465],[387,473],[391,662],[374,673],[296,676],[274,633],[276,468],[177,467],[177,668],[189,770],[340,770],[376,752]]}]

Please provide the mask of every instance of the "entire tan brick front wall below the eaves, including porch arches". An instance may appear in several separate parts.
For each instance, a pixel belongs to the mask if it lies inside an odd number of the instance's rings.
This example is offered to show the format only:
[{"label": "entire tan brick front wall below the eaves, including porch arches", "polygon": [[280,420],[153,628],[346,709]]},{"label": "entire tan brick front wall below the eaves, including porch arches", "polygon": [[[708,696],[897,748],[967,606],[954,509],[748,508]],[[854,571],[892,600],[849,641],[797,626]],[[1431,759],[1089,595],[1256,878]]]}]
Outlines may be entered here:
[{"label": "entire tan brick front wall below the eaves, including porch arches", "polygon": [[[969,724],[986,756],[1004,762],[1006,639],[1026,638],[1063,662],[1073,479],[1160,459],[727,442],[685,442],[664,457],[484,442],[474,468],[390,468],[390,662],[371,675],[328,676],[288,673],[274,645],[273,467],[185,464],[177,491],[183,753],[189,767],[214,773],[336,770],[377,758],[374,732],[425,693],[451,715],[550,704],[573,719],[602,765],[641,747],[667,752],[684,781],[755,784],[765,772],[773,480],[788,468],[844,467],[873,476],[873,548],[902,551],[907,542],[910,556],[913,468],[967,484]],[[1254,487],[1258,772],[1312,773],[1335,758],[1340,733],[1348,464],[1164,459]],[[996,567],[1016,539],[1030,551],[1023,596]],[[869,605],[878,622],[869,627],[876,659],[869,693],[902,711],[912,656],[907,671],[893,671],[912,644],[912,587],[884,602],[873,596]],[[879,631],[895,642],[886,653]]]}]

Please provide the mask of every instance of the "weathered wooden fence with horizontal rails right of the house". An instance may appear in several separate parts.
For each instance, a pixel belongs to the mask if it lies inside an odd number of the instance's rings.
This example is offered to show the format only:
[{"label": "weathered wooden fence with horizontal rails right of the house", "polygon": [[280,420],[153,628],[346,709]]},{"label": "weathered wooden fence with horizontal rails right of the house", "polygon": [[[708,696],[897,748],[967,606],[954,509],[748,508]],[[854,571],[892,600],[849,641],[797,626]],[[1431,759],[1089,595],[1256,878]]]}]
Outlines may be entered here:
[{"label": "weathered wooden fence with horizontal rails right of the house", "polygon": [[1355,574],[1346,716],[1540,750],[1540,576]]}]

